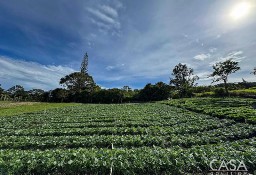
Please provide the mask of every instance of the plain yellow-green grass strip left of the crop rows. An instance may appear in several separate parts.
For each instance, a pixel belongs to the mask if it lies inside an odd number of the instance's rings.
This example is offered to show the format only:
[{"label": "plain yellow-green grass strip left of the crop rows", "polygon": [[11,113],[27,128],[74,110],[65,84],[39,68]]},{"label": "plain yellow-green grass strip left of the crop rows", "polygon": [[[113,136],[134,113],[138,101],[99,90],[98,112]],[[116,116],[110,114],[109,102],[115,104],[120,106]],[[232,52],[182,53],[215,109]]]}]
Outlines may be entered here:
[{"label": "plain yellow-green grass strip left of the crop rows", "polygon": [[38,102],[6,102],[0,101],[0,116],[13,116],[23,113],[37,112],[52,108],[79,105],[77,103],[38,103]]}]

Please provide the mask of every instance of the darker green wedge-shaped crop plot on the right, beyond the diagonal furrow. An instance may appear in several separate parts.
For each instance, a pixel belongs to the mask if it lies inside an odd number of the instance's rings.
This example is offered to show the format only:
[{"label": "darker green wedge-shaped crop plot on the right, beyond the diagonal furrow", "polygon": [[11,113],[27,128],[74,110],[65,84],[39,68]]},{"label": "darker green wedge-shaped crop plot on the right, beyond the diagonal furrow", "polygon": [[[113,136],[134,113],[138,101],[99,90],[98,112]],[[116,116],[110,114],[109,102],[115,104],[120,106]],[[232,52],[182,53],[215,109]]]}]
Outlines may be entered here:
[{"label": "darker green wedge-shaped crop plot on the right, beyond the diagonal furrow", "polygon": [[182,107],[191,111],[231,118],[237,121],[256,123],[255,99],[248,98],[184,98],[162,103]]}]

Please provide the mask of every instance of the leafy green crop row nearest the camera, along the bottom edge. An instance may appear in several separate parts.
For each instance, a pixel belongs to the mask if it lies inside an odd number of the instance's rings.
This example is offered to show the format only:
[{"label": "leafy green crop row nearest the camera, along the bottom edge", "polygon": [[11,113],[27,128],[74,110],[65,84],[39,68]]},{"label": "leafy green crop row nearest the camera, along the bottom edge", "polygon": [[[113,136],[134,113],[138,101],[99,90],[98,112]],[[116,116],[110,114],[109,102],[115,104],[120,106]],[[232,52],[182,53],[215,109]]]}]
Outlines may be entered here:
[{"label": "leafy green crop row nearest the camera, along the bottom edge", "polygon": [[[241,141],[191,149],[158,147],[133,149],[54,149],[45,151],[1,150],[2,169],[16,174],[187,174],[209,171],[209,162],[243,160],[250,171],[255,166],[255,143]],[[6,163],[7,162],[7,163]],[[218,168],[218,163],[215,164]],[[74,173],[75,172],[75,173]]]}]

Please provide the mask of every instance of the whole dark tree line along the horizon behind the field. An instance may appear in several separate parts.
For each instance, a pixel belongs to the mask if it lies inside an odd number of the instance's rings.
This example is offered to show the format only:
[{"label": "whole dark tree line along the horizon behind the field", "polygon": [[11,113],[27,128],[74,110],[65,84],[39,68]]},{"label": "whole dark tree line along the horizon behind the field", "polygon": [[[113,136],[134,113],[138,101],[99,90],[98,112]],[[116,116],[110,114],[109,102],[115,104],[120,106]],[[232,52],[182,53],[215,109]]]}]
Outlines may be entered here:
[{"label": "whole dark tree line along the horizon behind the field", "polygon": [[[240,70],[237,61],[228,59],[217,62],[212,66],[213,71],[208,76],[213,82],[223,82],[218,85],[197,86],[199,80],[194,75],[194,70],[186,64],[177,64],[172,72],[169,84],[158,82],[148,83],[143,89],[123,88],[102,89],[93,77],[88,73],[88,54],[84,55],[79,72],[73,72],[60,79],[59,84],[63,88],[50,91],[32,89],[25,91],[21,85],[15,85],[4,90],[0,85],[1,100],[15,101],[41,101],[41,102],[82,102],[82,103],[123,103],[123,102],[147,102],[165,100],[168,98],[192,97],[194,93],[215,91],[219,96],[228,96],[229,88],[249,88],[256,83],[243,82],[228,83],[228,77]],[[251,72],[256,75],[256,67]]]}]

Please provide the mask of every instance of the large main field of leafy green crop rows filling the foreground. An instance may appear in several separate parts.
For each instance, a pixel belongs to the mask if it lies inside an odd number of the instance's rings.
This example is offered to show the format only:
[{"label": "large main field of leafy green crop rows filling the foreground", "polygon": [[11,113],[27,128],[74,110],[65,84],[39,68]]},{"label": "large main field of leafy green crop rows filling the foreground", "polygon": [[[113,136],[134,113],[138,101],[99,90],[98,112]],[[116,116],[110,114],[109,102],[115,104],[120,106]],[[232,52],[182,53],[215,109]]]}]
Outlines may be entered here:
[{"label": "large main field of leafy green crop rows filling the foreground", "polygon": [[[0,117],[0,172],[196,174],[256,169],[256,125],[161,103],[85,104]],[[218,164],[219,163],[219,164]]]}]

